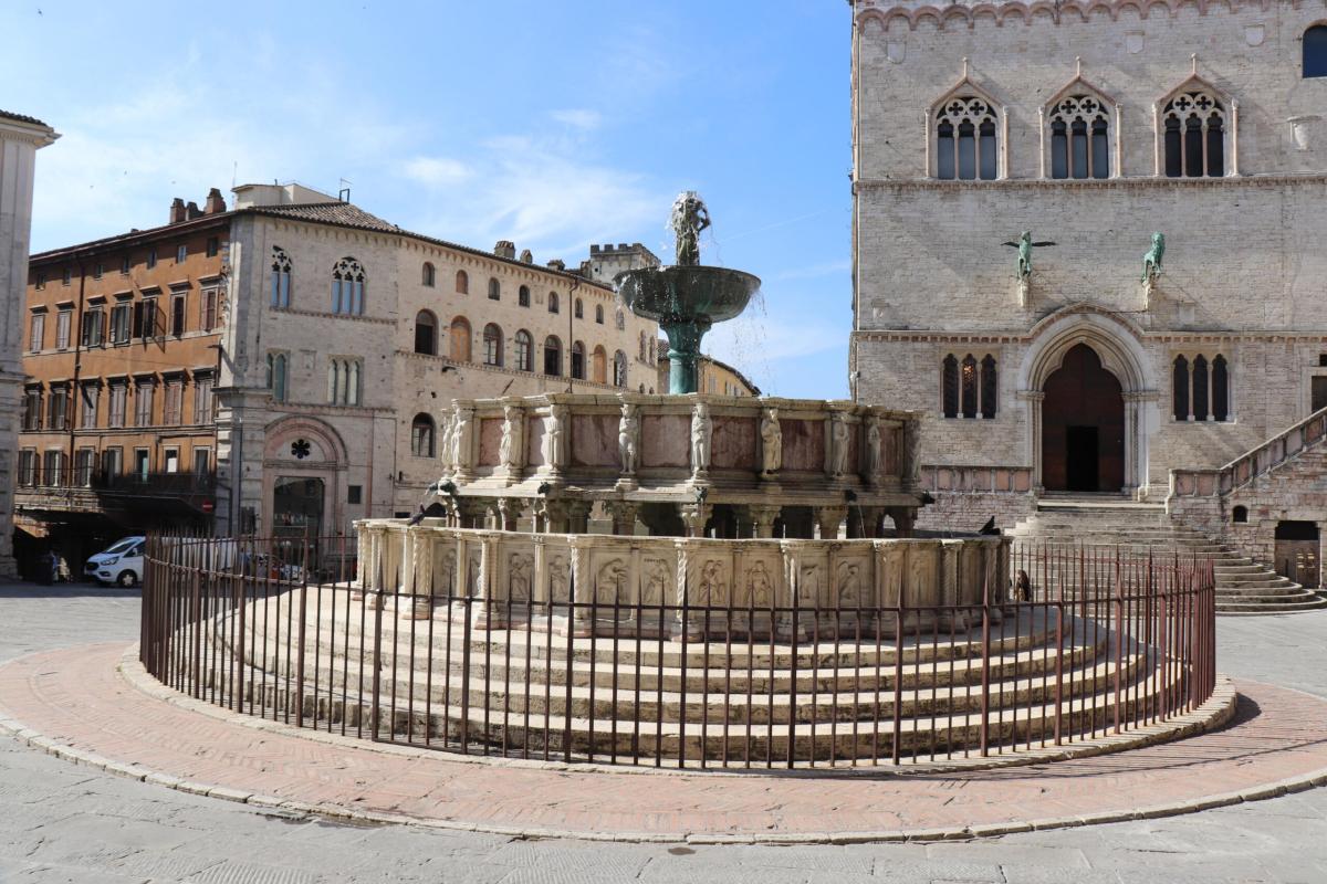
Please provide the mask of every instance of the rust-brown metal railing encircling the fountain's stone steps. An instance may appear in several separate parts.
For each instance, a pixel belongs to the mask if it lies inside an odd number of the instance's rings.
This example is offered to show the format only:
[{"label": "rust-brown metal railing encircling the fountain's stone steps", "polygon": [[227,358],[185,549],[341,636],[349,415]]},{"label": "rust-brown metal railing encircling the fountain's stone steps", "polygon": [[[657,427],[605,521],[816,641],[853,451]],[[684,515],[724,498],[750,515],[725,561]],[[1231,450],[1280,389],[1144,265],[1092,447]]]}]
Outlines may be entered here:
[{"label": "rust-brown metal railing encircling the fountain's stone steps", "polygon": [[1010,573],[1027,580],[942,606],[900,591],[824,607],[795,588],[788,604],[697,604],[686,580],[660,604],[575,587],[494,600],[365,591],[353,567],[342,538],[150,537],[142,661],[300,728],[679,767],[1027,751],[1166,721],[1216,684],[1214,578],[1197,557],[1023,545]]}]

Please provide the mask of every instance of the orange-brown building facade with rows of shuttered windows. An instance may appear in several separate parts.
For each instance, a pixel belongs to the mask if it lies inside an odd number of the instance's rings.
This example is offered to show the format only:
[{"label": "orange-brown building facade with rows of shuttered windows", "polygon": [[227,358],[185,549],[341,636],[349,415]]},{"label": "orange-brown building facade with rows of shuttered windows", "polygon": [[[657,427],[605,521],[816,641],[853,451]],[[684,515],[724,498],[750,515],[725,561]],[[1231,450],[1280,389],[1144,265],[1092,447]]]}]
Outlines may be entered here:
[{"label": "orange-brown building facade with rows of shuttered windows", "polygon": [[212,188],[161,227],[32,256],[16,521],[38,547],[78,563],[126,529],[211,522],[230,229]]}]

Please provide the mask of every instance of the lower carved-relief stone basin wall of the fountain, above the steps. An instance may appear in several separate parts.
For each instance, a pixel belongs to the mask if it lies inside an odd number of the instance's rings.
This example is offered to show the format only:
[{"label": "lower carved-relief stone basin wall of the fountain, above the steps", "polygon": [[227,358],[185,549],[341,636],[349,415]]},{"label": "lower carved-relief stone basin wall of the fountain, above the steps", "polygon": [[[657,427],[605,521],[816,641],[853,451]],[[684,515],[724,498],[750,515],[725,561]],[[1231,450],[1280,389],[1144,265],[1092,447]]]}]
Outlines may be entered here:
[{"label": "lower carved-relief stone basin wall of the fountain, above the steps", "polygon": [[[475,607],[487,619],[539,604],[597,604],[560,612],[584,628],[592,619],[613,619],[614,606],[621,622],[634,622],[640,604],[656,624],[664,618],[678,626],[677,608],[702,608],[691,612],[701,623],[703,608],[713,607],[709,619],[718,630],[721,620],[727,623],[725,608],[754,611],[764,620],[762,632],[771,616],[791,631],[790,608],[796,607],[800,631],[815,610],[979,606],[987,582],[1009,582],[1009,539],[998,537],[714,541],[482,531],[434,520],[414,527],[376,520],[357,527],[365,588],[490,600]],[[856,627],[841,618],[825,624],[832,622]]]}]

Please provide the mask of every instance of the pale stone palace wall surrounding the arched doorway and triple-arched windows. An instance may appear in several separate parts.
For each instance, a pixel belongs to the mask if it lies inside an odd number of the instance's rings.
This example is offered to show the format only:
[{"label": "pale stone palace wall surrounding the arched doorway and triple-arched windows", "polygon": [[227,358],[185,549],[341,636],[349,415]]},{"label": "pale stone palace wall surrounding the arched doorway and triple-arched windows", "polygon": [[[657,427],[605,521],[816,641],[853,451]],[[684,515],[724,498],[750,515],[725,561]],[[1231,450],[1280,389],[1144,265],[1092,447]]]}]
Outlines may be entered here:
[{"label": "pale stone palace wall surrounding the arched doorway and triple-arched windows", "polygon": [[[1027,467],[1040,484],[1047,354],[1075,341],[1104,363],[1116,351],[1128,488],[1164,493],[1170,468],[1220,467],[1308,414],[1327,374],[1327,80],[1302,80],[1299,53],[1320,4],[853,8],[852,370],[861,402],[924,415],[925,463]],[[1158,171],[1154,106],[1194,76],[1229,114],[1222,178]],[[1109,106],[1111,176],[1051,179],[1044,113],[1084,91]],[[997,110],[997,180],[933,178],[936,109],[958,93]],[[1020,293],[1005,244],[1028,229],[1054,245]],[[1166,253],[1148,292],[1154,231]],[[997,360],[994,419],[942,416],[949,354]],[[1174,419],[1181,354],[1226,358],[1231,420]]]}]

